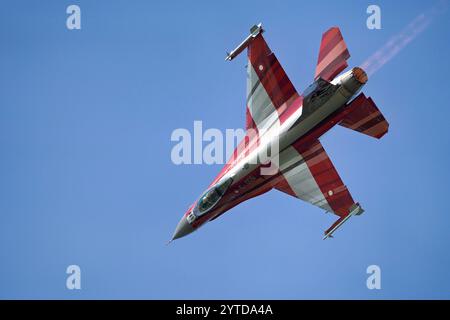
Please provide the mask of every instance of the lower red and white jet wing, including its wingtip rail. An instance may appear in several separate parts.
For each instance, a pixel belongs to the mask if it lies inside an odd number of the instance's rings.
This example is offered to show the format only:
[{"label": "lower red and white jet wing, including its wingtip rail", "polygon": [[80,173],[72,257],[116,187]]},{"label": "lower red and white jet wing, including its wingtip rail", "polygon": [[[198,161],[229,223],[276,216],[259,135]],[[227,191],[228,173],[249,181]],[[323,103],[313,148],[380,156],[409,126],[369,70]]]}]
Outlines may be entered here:
[{"label": "lower red and white jet wing, including its wingtip rail", "polygon": [[308,147],[289,147],[280,155],[280,171],[283,179],[276,189],[339,216],[325,232],[325,238],[350,216],[364,212],[353,200],[318,140]]}]

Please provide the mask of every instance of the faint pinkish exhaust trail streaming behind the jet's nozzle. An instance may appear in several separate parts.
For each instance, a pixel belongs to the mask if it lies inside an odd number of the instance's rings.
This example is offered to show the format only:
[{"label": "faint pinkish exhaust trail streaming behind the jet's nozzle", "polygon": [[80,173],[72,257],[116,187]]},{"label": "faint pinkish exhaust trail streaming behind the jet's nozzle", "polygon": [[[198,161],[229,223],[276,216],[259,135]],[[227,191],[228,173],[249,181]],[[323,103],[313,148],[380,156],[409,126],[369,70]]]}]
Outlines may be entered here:
[{"label": "faint pinkish exhaust trail streaming behind the jet's nozzle", "polygon": [[391,37],[388,42],[367,58],[361,68],[369,76],[373,75],[427,29],[436,16],[447,9],[448,4],[447,0],[440,1],[426,12],[418,15],[402,31]]}]

